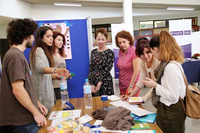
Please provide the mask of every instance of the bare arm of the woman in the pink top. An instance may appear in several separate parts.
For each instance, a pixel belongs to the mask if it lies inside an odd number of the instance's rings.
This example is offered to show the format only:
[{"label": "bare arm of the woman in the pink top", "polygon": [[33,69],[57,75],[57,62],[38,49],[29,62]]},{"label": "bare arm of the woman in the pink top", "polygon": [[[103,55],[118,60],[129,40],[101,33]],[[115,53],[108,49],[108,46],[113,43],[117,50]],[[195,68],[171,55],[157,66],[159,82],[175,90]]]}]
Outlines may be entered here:
[{"label": "bare arm of the woman in the pink top", "polygon": [[130,85],[134,86],[135,82],[136,82],[136,79],[137,79],[137,76],[139,74],[139,71],[140,71],[140,59],[139,58],[136,58],[133,60],[133,75],[131,77],[131,82],[129,84],[129,87],[128,87],[128,93],[130,94],[132,92],[132,89],[130,87]]}]

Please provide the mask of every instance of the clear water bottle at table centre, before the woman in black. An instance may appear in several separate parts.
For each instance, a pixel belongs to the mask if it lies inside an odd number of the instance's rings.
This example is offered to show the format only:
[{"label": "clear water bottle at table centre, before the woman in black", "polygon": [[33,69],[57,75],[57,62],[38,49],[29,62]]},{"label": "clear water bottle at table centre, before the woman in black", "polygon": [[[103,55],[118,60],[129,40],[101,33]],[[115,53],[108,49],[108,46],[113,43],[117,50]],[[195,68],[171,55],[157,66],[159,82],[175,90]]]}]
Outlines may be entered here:
[{"label": "clear water bottle at table centre, before the woman in black", "polygon": [[83,85],[83,91],[84,91],[85,108],[92,108],[91,85],[88,82],[88,79],[85,79],[85,84]]}]

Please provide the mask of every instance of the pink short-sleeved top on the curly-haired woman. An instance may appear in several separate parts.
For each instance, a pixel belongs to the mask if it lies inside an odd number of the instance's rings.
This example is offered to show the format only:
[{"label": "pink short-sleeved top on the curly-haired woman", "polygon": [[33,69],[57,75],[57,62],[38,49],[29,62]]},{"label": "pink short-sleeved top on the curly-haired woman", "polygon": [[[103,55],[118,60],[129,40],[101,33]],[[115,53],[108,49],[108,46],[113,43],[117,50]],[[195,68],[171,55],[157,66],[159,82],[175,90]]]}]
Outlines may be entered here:
[{"label": "pink short-sleeved top on the curly-haired woman", "polygon": [[[126,90],[130,85],[132,75],[134,73],[133,60],[136,59],[135,47],[130,46],[125,56],[122,50],[119,51],[119,57],[117,61],[117,67],[119,68],[119,88],[120,90]],[[138,81],[138,77],[136,82]],[[136,84],[136,82],[134,84]]]}]

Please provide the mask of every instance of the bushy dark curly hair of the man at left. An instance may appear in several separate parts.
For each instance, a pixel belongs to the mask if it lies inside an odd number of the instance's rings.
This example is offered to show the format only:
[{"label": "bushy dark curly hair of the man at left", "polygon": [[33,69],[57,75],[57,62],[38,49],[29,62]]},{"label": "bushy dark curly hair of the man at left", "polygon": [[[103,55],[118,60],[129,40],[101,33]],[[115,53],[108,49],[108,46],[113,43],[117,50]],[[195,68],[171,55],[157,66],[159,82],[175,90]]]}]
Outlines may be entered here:
[{"label": "bushy dark curly hair of the man at left", "polygon": [[15,19],[8,24],[7,38],[10,45],[19,45],[23,43],[23,40],[34,35],[38,25],[32,19]]}]

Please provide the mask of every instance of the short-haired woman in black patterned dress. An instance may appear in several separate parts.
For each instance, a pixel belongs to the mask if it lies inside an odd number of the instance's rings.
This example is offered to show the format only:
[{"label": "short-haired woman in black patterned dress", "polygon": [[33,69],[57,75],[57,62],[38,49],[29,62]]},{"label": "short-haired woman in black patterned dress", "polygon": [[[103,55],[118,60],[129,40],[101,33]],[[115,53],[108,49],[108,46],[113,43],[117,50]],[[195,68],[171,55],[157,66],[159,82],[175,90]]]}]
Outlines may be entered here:
[{"label": "short-haired woman in black patterned dress", "polygon": [[114,52],[105,46],[108,33],[99,29],[95,33],[97,49],[93,49],[90,59],[90,72],[88,79],[92,85],[94,96],[113,95],[113,81],[110,71],[113,67]]}]

